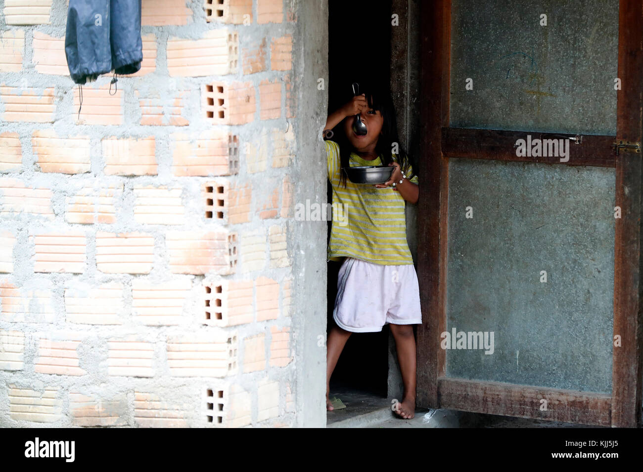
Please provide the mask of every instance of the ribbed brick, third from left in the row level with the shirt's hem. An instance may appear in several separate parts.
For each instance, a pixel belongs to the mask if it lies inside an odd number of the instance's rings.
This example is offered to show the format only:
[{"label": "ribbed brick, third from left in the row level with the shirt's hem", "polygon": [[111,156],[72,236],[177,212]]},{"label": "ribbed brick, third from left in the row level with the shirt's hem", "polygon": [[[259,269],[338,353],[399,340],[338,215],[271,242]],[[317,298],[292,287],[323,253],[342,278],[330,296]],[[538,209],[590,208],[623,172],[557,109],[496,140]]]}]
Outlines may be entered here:
[{"label": "ribbed brick, third from left in the row level with the shirt's hem", "polygon": [[154,236],[143,232],[96,232],[96,268],[106,274],[149,274]]}]

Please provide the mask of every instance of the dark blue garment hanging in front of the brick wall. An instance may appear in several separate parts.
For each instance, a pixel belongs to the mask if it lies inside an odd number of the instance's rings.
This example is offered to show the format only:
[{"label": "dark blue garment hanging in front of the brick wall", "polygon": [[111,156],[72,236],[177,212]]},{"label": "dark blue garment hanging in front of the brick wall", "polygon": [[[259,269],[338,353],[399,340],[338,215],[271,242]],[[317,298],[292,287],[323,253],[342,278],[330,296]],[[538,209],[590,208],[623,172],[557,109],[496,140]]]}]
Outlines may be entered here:
[{"label": "dark blue garment hanging in front of the brick wall", "polygon": [[65,54],[75,83],[141,68],[141,0],[69,0]]}]

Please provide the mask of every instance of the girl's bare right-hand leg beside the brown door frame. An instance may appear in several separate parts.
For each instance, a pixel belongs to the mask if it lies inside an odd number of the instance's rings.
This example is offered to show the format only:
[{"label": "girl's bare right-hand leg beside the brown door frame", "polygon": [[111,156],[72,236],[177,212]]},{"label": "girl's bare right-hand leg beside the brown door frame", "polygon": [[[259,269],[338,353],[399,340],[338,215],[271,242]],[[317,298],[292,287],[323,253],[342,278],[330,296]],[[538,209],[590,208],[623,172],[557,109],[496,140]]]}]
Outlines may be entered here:
[{"label": "girl's bare right-hand leg beside the brown door frame", "polygon": [[395,413],[404,419],[415,416],[415,337],[412,324],[389,324],[397,347],[397,362],[402,371],[404,396]]}]

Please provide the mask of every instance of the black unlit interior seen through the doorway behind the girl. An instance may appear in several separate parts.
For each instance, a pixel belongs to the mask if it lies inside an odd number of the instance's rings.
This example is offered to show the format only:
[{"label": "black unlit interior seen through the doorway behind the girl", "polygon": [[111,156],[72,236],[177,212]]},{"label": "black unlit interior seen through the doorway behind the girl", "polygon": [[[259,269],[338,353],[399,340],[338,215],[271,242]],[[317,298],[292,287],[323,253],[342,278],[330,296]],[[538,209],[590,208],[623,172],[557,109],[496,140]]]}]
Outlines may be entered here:
[{"label": "black unlit interior seen through the doorway behind the girl", "polygon": [[[352,83],[390,83],[390,0],[329,1],[329,113],[352,97]],[[341,124],[340,124],[341,125]],[[337,128],[334,132],[337,132]],[[328,201],[332,188],[328,184]],[[328,236],[331,234],[331,222]],[[332,319],[340,262],[328,262],[328,329]],[[368,283],[368,281],[364,281]],[[350,336],[331,378],[331,392],[360,390],[387,395],[388,325],[379,333]]]}]

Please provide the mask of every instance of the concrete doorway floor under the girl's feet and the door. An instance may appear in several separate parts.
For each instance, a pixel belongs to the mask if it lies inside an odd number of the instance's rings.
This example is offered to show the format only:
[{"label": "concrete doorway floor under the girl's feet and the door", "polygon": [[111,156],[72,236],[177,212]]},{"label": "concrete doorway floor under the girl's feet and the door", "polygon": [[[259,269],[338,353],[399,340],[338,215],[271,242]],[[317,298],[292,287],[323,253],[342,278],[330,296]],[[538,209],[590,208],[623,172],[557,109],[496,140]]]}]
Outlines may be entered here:
[{"label": "concrete doorway floor under the girl's feet and the door", "polygon": [[413,419],[401,419],[391,401],[359,390],[331,391],[346,408],[327,412],[328,428],[595,428],[584,424],[514,418],[456,410],[417,408]]}]

